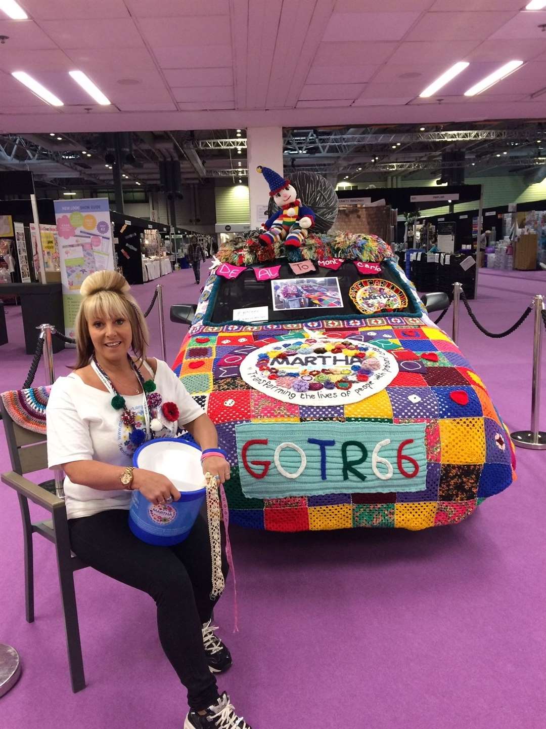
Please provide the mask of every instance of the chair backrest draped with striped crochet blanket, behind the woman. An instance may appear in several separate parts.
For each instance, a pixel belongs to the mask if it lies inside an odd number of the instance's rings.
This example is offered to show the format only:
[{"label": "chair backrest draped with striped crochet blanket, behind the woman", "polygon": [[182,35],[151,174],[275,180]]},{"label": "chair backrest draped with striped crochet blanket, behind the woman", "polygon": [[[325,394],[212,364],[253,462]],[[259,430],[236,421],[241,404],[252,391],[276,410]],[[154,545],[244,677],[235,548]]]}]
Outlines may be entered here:
[{"label": "chair backrest draped with striped crochet blanket, behind the woman", "polygon": [[0,394],[0,412],[12,470],[23,475],[47,468],[45,408],[50,387]]}]

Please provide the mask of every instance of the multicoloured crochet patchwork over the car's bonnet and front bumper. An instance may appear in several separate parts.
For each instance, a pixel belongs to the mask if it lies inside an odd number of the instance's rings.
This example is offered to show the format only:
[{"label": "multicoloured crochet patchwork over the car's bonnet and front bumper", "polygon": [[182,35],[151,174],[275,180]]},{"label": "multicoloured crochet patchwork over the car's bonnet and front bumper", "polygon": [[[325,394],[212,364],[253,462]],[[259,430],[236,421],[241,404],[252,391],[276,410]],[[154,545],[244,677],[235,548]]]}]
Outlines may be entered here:
[{"label": "multicoloured crochet patchwork over the car's bonnet and front bumper", "polygon": [[422,311],[211,325],[214,283],[174,369],[228,453],[232,522],[425,529],[510,485],[514,448],[486,386]]}]

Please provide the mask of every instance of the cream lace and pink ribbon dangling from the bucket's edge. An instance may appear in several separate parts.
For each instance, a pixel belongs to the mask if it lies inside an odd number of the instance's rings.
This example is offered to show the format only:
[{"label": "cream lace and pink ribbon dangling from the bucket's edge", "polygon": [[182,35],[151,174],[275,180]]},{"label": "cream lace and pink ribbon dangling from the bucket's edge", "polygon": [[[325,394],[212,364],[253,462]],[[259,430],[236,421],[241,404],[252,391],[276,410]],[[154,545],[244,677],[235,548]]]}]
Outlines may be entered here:
[{"label": "cream lace and pink ribbon dangling from the bucket's edge", "polygon": [[232,546],[229,542],[229,509],[226,499],[226,492],[223,485],[218,486],[218,481],[208,471],[205,473],[205,488],[207,489],[207,520],[208,533],[210,537],[210,556],[213,566],[213,586],[210,592],[212,599],[220,596],[226,587],[222,572],[222,543],[220,531],[220,519],[226,527],[226,556],[229,569],[233,576],[234,586],[234,632],[239,631],[239,616],[237,609],[237,582],[235,580],[235,569],[233,564]]}]

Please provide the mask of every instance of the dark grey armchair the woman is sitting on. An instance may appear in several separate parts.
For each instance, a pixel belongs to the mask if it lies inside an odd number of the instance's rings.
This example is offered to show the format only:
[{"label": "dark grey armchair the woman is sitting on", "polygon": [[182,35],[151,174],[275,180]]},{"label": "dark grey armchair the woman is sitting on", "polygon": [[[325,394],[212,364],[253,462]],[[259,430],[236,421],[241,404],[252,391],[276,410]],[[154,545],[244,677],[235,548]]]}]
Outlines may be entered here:
[{"label": "dark grey armchair the woman is sitting on", "polygon": [[[44,388],[41,392],[41,403],[44,401]],[[79,637],[78,611],[74,590],[74,572],[83,569],[87,564],[71,553],[68,536],[68,520],[64,499],[51,494],[38,483],[25,477],[25,473],[47,468],[47,443],[44,432],[33,432],[13,419],[13,411],[8,412],[5,403],[9,396],[18,399],[33,400],[34,389],[4,392],[0,397],[0,413],[4,422],[9,459],[12,471],[1,474],[1,480],[17,491],[21,518],[23,520],[23,536],[25,540],[25,613],[28,623],[34,620],[34,569],[33,569],[33,534],[41,534],[55,545],[59,575],[60,596],[63,604],[63,615],[66,630],[66,646],[68,650],[68,666],[72,690],[81,691],[85,687],[82,644]],[[45,396],[47,398],[47,395]],[[11,398],[13,400],[13,397]],[[33,523],[28,509],[28,499],[39,504],[50,512],[51,519]]]}]

